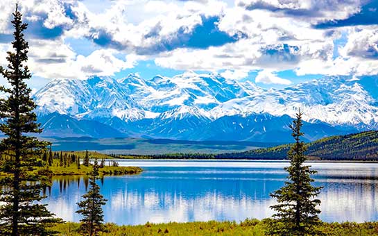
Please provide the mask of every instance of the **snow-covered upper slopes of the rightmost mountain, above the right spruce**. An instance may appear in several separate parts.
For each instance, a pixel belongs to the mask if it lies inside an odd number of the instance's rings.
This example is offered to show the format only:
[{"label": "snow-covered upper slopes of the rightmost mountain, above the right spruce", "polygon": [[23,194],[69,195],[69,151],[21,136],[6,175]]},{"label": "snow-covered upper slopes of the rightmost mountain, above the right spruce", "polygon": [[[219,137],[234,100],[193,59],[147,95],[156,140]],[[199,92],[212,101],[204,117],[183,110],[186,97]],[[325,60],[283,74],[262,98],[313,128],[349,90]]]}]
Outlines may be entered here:
[{"label": "snow-covered upper slopes of the rightmost mountain, above the right spruce", "polygon": [[378,108],[375,99],[358,81],[329,77],[301,83],[282,90],[268,90],[241,99],[227,101],[212,110],[215,117],[268,113],[289,115],[301,108],[305,121],[323,121],[333,125],[375,125]]}]

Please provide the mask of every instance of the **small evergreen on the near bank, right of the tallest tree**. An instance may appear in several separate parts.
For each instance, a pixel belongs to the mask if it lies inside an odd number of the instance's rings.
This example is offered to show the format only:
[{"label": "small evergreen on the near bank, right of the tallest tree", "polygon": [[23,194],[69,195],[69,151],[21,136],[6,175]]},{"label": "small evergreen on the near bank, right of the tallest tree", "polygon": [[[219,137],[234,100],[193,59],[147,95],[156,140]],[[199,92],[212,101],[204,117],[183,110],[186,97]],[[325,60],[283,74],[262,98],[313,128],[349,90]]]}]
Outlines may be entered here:
[{"label": "small evergreen on the near bank, right of the tallest tree", "polygon": [[83,195],[83,201],[78,203],[79,210],[76,213],[82,214],[83,219],[80,231],[88,235],[98,235],[103,230],[103,209],[106,199],[100,194],[100,187],[96,184],[98,179],[98,163],[94,160],[93,170],[89,176],[89,190]]}]

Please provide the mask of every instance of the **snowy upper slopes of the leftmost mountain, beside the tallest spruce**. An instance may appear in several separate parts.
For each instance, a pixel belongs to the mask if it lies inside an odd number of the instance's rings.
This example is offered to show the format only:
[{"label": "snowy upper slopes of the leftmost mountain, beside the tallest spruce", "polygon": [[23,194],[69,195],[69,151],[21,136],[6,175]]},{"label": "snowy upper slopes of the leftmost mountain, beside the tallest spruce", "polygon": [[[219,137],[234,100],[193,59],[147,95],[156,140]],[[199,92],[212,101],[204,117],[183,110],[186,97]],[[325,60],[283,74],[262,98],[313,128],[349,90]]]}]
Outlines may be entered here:
[{"label": "snowy upper slopes of the leftmost mountain, beside the tallest spruce", "polygon": [[33,97],[38,115],[59,112],[92,119],[119,114],[126,119],[140,119],[144,112],[130,93],[110,77],[91,76],[85,81],[56,79]]}]

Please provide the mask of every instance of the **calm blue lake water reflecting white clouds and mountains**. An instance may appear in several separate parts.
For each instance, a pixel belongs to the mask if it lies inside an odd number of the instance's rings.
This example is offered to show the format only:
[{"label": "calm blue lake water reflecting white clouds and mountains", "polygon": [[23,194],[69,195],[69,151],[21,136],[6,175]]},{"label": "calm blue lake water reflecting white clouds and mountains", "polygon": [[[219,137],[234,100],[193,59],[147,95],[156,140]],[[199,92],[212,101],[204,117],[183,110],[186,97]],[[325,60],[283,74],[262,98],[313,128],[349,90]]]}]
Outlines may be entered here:
[{"label": "calm blue lake water reflecting white clouds and mountains", "polygon": [[[121,166],[142,167],[136,176],[98,180],[105,221],[145,224],[147,221],[242,221],[273,214],[270,192],[284,184],[283,161],[120,160]],[[324,221],[378,220],[378,164],[309,162],[318,170],[314,185],[324,186],[319,198]],[[56,178],[44,199],[52,212],[78,221],[76,202],[87,180]],[[377,197],[376,197],[377,194]]]}]

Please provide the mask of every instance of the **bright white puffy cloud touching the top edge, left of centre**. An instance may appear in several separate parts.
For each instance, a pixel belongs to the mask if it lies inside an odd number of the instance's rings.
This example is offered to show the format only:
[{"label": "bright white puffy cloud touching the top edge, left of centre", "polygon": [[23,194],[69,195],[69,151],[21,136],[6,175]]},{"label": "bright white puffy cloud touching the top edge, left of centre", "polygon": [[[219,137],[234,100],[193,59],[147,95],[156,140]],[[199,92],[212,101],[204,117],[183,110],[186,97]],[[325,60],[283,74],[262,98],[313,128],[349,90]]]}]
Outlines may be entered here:
[{"label": "bright white puffy cloud touching the top edge, left of centre", "polygon": [[[175,41],[178,32],[191,33],[202,24],[202,17],[221,15],[227,3],[209,0],[198,1],[113,1],[104,12],[94,13],[84,3],[72,8],[77,16],[76,25],[65,35],[89,37],[94,41],[105,34],[105,47],[116,47],[125,53],[160,53],[156,48],[162,42]],[[130,19],[130,8],[143,16],[143,20]],[[180,41],[180,39],[179,39]],[[103,45],[104,46],[104,45]]]}]

